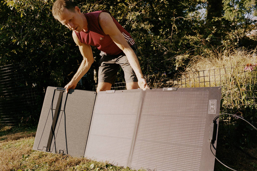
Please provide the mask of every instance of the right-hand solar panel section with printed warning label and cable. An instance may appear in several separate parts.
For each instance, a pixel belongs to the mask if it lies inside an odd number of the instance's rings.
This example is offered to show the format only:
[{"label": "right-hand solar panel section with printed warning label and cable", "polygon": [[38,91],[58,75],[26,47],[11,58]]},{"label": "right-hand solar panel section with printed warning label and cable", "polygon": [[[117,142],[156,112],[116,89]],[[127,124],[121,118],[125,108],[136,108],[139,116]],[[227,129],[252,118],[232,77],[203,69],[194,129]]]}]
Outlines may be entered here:
[{"label": "right-hand solar panel section with printed warning label and cable", "polygon": [[[219,114],[219,87],[145,92],[130,166],[166,171],[213,170],[209,127]],[[216,100],[212,113],[210,100]]]}]

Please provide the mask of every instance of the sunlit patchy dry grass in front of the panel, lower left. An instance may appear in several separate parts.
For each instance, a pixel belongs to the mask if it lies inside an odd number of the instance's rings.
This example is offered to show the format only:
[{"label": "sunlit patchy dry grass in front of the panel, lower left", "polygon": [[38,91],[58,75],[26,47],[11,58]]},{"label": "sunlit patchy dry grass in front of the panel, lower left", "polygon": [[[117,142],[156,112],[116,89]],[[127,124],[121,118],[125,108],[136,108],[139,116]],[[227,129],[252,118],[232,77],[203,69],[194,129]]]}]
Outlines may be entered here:
[{"label": "sunlit patchy dry grass in front of the panel, lower left", "polygon": [[[0,128],[0,170],[112,170],[128,171],[109,164],[87,158],[52,154],[32,150],[35,128]],[[23,138],[22,138],[23,137]],[[141,169],[142,170],[142,169]]]}]

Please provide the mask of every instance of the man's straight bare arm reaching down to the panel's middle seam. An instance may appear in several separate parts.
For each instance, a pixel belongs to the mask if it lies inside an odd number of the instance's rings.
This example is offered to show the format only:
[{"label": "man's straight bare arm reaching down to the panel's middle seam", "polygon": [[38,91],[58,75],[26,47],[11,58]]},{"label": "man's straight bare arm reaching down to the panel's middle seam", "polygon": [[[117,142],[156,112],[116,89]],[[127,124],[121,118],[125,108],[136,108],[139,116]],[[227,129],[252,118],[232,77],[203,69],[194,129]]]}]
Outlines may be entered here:
[{"label": "man's straight bare arm reaching down to the panel's middle seam", "polygon": [[107,12],[100,13],[98,17],[98,23],[105,34],[108,34],[113,42],[124,52],[128,58],[128,62],[133,68],[136,77],[138,79],[138,85],[140,88],[149,88],[146,83],[142,70],[137,59],[137,56],[130,45],[127,43],[124,36],[121,34],[120,30],[117,28],[116,24],[113,22],[111,15]]}]

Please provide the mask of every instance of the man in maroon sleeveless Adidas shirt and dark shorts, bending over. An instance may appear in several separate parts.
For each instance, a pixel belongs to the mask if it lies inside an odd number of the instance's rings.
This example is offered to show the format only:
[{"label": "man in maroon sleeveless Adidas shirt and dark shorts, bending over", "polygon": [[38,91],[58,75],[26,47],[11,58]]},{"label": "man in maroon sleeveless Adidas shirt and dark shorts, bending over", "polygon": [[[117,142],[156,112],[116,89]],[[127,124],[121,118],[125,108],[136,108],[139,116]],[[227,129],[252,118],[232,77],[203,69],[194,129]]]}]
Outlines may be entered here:
[{"label": "man in maroon sleeveless Adidas shirt and dark shorts, bending over", "polygon": [[[149,88],[134,52],[136,46],[130,34],[107,11],[81,13],[71,0],[54,2],[52,13],[63,25],[73,30],[72,37],[79,46],[83,61],[65,86],[74,89],[94,62],[91,46],[101,50],[97,92],[110,90],[118,66],[124,71],[127,89]],[[133,50],[133,49],[134,50]]]}]

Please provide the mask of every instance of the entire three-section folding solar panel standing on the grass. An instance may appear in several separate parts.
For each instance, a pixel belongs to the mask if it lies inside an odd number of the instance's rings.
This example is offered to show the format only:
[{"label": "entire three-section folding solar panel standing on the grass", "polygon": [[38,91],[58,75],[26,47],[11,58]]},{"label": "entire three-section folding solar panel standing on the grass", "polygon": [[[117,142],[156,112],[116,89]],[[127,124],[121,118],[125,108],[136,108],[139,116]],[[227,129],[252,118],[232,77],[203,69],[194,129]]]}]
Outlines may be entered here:
[{"label": "entire three-section folding solar panel standing on the grass", "polygon": [[134,169],[214,169],[209,131],[219,114],[221,87],[109,90],[96,99],[95,92],[58,91],[47,90],[33,149]]}]

